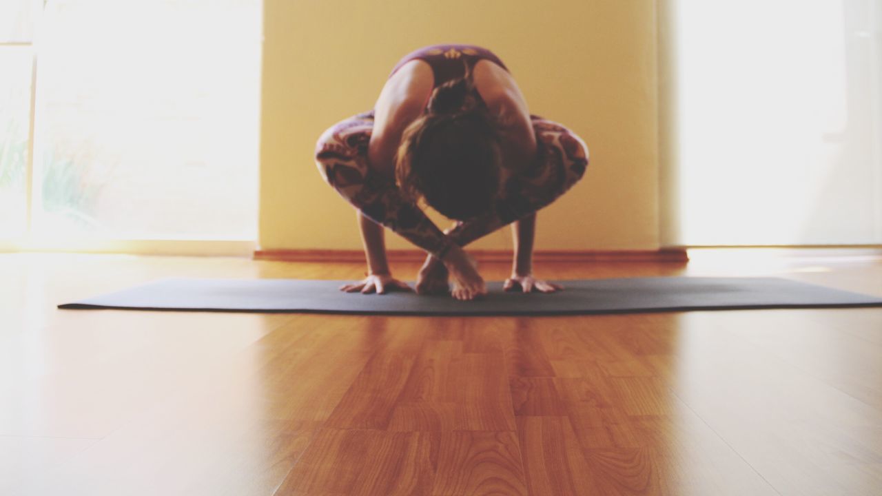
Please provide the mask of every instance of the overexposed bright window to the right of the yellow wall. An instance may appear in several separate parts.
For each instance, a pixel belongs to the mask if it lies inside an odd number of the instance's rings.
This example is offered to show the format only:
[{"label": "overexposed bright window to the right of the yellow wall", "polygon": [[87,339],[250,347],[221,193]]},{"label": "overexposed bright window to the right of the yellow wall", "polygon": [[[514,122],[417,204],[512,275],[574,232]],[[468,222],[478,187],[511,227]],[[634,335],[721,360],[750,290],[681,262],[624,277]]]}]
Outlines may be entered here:
[{"label": "overexposed bright window to the right of the yellow wall", "polygon": [[676,244],[882,243],[878,0],[678,0]]}]

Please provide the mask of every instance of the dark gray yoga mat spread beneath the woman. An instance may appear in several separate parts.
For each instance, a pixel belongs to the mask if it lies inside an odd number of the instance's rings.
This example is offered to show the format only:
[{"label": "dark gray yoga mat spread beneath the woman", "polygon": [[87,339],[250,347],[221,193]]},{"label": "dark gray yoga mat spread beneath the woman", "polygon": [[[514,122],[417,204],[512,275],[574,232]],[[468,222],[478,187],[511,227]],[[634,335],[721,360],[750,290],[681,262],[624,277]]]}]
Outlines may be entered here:
[{"label": "dark gray yoga mat spread beneath the woman", "polygon": [[330,312],[425,315],[587,313],[882,306],[882,297],[779,278],[649,277],[562,281],[553,294],[504,292],[460,302],[449,296],[344,293],[344,281],[165,279],[59,308],[218,312]]}]

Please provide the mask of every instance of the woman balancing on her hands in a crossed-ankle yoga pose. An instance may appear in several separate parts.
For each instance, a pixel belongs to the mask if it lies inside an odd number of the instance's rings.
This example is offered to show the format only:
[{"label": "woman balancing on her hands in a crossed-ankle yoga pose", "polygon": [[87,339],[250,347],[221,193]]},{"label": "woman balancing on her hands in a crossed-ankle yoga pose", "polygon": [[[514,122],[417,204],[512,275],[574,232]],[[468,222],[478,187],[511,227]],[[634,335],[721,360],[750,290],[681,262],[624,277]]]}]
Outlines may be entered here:
[{"label": "woman balancing on her hands in a crossed-ankle yoga pose", "polygon": [[[530,115],[490,50],[416,50],[392,70],[373,110],[318,139],[318,169],[357,209],[368,261],[367,277],[340,289],[410,289],[392,277],[385,226],[428,252],[417,293],[479,297],[486,285],[462,247],[512,222],[514,259],[505,289],[562,289],[533,275],[536,212],[579,181],[587,156],[574,133]],[[455,225],[442,232],[417,206],[421,200]]]}]

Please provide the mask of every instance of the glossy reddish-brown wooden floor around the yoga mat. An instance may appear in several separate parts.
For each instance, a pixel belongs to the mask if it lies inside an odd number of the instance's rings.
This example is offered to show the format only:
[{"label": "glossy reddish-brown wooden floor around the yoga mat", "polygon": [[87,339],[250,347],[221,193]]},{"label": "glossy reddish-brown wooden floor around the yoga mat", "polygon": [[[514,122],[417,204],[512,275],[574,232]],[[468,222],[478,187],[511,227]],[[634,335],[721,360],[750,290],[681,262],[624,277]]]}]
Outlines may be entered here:
[{"label": "glossy reddish-brown wooden floor around the yoga mat", "polygon": [[[754,253],[538,272],[774,275],[882,296],[878,260]],[[482,270],[499,279],[506,267]],[[0,255],[0,494],[882,494],[882,309],[415,318],[55,308],[165,276],[362,273]]]}]

